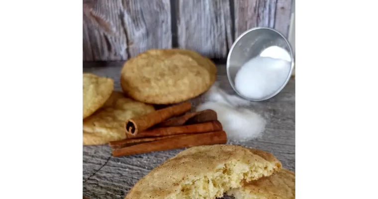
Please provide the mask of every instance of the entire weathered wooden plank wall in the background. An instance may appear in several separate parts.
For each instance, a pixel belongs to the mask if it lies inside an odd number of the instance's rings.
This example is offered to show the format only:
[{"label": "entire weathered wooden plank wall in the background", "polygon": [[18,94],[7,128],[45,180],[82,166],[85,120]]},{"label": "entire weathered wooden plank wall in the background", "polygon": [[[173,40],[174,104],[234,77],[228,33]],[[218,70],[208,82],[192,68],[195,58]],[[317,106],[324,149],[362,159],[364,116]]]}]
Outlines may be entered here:
[{"label": "entire weathered wooden plank wall in the background", "polygon": [[287,36],[292,0],[83,0],[83,61],[123,61],[150,48],[225,59],[253,27]]}]

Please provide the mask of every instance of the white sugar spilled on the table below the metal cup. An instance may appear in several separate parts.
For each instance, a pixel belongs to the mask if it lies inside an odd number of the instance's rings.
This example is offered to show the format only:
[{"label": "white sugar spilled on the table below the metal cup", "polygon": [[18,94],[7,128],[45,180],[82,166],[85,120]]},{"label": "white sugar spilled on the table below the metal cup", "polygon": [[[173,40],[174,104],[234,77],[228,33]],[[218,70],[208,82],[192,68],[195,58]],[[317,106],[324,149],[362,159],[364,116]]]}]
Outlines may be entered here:
[{"label": "white sugar spilled on the table below the metal cup", "polygon": [[196,107],[196,111],[212,109],[227,134],[228,140],[248,141],[260,137],[265,130],[265,119],[243,105],[250,101],[228,95],[213,85],[205,94],[205,102]]}]

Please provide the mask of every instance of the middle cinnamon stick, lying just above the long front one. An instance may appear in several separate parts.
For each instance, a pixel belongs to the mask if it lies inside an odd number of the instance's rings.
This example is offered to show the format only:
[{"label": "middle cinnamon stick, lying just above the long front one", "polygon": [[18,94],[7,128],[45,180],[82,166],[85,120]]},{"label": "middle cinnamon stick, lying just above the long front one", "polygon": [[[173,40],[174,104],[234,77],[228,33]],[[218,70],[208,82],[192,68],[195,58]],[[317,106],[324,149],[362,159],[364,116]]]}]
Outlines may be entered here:
[{"label": "middle cinnamon stick, lying just above the long front one", "polygon": [[209,121],[199,124],[191,124],[185,126],[171,126],[171,127],[161,127],[153,128],[151,130],[146,130],[140,132],[137,137],[159,137],[167,135],[179,135],[179,134],[189,134],[189,133],[205,133],[211,131],[222,130],[222,124],[218,121]]}]

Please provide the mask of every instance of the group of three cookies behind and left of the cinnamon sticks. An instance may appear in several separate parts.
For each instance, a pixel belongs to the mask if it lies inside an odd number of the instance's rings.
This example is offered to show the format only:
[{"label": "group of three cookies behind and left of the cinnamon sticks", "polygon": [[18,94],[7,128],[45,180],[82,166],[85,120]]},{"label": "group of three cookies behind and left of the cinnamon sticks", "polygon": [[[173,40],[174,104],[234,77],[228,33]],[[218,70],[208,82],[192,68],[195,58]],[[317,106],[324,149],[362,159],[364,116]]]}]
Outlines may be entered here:
[{"label": "group of three cookies behind and left of the cinnamon sticks", "polygon": [[127,139],[124,122],[155,111],[152,104],[183,102],[206,92],[215,82],[216,67],[196,52],[151,49],[125,62],[123,92],[114,81],[83,74],[83,145]]}]

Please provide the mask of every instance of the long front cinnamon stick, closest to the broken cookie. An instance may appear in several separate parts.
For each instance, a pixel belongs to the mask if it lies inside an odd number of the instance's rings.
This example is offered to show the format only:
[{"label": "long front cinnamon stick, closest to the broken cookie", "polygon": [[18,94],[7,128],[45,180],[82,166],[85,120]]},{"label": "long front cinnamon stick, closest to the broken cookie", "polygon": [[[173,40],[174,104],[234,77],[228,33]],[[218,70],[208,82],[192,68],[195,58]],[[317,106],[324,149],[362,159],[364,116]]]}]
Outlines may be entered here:
[{"label": "long front cinnamon stick, closest to the broken cookie", "polygon": [[111,152],[111,154],[114,157],[120,157],[125,155],[149,153],[154,151],[166,151],[193,146],[224,144],[226,142],[226,133],[224,131],[215,131],[190,135],[178,135],[172,138],[142,143],[121,149],[115,149]]}]

